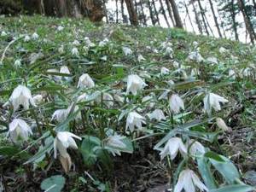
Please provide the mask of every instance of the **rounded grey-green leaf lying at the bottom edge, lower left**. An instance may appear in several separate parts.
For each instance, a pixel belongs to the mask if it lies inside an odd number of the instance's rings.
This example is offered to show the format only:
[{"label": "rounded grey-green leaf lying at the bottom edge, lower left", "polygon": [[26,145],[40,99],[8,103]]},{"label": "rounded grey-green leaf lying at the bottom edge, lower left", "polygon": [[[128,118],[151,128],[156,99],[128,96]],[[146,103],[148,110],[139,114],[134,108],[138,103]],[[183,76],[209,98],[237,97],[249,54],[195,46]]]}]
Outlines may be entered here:
[{"label": "rounded grey-green leaf lying at the bottom edge, lower left", "polygon": [[41,183],[41,189],[47,192],[61,192],[65,184],[65,177],[55,175],[44,179]]}]

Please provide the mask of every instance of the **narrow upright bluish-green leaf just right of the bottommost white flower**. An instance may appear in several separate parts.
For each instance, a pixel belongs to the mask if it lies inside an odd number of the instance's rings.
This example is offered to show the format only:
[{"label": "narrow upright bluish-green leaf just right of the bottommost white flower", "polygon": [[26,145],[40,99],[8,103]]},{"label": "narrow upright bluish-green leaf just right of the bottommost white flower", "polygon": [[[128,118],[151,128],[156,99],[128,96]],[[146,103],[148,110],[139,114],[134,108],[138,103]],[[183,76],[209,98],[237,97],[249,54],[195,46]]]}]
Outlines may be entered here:
[{"label": "narrow upright bluish-green leaf just right of the bottommost white flower", "polygon": [[198,157],[197,159],[198,170],[201,173],[201,177],[208,189],[216,189],[216,183],[212,177],[212,172],[207,159],[204,156]]}]

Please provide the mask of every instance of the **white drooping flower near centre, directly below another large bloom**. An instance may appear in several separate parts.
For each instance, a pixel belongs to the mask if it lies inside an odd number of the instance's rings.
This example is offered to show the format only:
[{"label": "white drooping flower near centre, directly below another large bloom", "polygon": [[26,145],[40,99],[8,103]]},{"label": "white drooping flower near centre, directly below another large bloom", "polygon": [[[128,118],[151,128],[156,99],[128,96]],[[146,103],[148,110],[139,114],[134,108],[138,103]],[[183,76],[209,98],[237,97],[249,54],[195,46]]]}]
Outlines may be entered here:
[{"label": "white drooping flower near centre, directly below another large bloom", "polygon": [[142,130],[143,124],[146,124],[146,122],[142,115],[137,112],[130,112],[126,119],[126,131],[129,129],[133,132],[135,127],[137,127],[138,130]]}]

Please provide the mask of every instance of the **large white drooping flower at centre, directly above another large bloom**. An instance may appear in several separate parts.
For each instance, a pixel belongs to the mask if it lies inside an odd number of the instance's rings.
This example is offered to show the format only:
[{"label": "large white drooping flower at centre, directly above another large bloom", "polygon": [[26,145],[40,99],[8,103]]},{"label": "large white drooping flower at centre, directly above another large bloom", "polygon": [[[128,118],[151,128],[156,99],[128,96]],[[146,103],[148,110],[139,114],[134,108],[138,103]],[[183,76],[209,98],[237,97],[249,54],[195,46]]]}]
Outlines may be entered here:
[{"label": "large white drooping flower at centre, directly above another large bloom", "polygon": [[132,93],[132,95],[137,95],[137,92],[143,90],[147,84],[136,74],[131,74],[127,79],[127,93]]}]

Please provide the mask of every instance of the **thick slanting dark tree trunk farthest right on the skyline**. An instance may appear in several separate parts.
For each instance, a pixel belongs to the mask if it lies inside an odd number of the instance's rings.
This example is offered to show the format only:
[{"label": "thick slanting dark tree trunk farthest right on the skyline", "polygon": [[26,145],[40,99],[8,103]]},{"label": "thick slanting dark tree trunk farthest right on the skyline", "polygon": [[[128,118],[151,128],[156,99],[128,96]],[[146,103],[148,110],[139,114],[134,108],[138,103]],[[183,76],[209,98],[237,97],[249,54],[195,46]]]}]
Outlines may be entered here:
[{"label": "thick slanting dark tree trunk farthest right on the skyline", "polygon": [[254,44],[254,39],[256,38],[255,32],[253,31],[253,24],[251,23],[250,18],[247,15],[246,9],[245,9],[245,4],[243,0],[237,0],[239,9],[241,10],[241,14],[243,16],[243,20],[246,25],[247,32],[249,33],[250,39],[252,44]]}]

